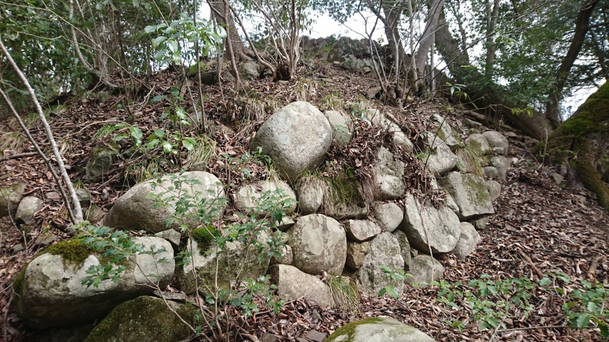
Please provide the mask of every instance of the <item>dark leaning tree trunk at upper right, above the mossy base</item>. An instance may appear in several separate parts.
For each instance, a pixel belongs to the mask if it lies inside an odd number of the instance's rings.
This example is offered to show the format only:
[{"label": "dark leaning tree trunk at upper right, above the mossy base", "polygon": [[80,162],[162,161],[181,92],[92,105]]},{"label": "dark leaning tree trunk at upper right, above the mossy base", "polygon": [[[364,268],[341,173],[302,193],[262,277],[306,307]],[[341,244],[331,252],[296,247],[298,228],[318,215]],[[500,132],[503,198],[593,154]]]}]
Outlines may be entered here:
[{"label": "dark leaning tree trunk at upper right, above the mossy base", "polygon": [[594,7],[599,3],[599,0],[586,0],[580,8],[576,19],[576,29],[569,51],[562,59],[562,63],[556,72],[556,78],[552,86],[550,86],[550,96],[546,102],[546,118],[554,125],[560,122],[560,100],[562,100],[562,92],[566,84],[566,79],[569,77],[569,72],[573,67],[573,63],[578,59],[582,45],[586,38],[589,29],[590,17],[594,13]]}]

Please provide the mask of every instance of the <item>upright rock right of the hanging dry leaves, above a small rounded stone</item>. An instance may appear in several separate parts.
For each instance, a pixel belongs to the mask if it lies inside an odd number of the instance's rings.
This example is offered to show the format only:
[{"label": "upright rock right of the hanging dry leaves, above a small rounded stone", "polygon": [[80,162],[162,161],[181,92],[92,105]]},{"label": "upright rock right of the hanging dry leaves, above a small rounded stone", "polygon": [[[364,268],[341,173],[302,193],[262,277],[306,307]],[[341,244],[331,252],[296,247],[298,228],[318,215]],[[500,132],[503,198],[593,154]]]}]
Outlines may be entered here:
[{"label": "upright rock right of the hanging dry leaves, above a small rounded stone", "polygon": [[403,180],[404,163],[396,160],[393,153],[384,147],[379,148],[373,166],[374,197],[377,200],[398,199],[406,191]]}]

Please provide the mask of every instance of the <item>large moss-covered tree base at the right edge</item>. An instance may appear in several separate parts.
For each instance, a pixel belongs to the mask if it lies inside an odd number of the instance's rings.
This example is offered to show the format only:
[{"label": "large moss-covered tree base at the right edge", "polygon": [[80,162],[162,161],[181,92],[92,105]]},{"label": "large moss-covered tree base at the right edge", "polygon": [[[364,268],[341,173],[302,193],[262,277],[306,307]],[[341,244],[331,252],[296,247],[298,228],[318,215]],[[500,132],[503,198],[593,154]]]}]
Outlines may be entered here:
[{"label": "large moss-covered tree base at the right edge", "polygon": [[[568,165],[576,171],[585,187],[594,192],[599,203],[609,210],[609,188],[603,164],[609,150],[609,83],[582,104],[573,116],[552,132],[546,146],[536,146],[547,153],[554,164]],[[605,178],[603,178],[603,176]]]}]

